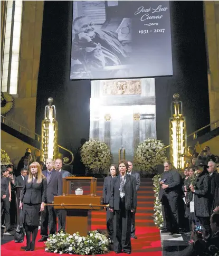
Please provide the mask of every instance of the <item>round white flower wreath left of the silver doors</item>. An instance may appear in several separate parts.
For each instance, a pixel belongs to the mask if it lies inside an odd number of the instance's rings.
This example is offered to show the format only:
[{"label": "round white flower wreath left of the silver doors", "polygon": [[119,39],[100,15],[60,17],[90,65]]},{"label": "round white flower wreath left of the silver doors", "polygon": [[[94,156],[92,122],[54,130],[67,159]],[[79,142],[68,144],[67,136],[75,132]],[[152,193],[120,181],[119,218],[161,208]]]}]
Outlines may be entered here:
[{"label": "round white flower wreath left of the silver doors", "polygon": [[110,159],[110,150],[102,141],[89,139],[81,147],[81,161],[91,170],[108,168]]}]

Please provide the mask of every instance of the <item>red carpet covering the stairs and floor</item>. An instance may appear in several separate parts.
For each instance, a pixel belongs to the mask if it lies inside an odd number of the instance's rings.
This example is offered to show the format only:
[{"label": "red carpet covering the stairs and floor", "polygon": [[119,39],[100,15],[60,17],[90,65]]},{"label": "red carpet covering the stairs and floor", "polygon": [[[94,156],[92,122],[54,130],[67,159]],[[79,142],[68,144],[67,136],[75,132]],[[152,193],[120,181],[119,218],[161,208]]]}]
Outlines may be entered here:
[{"label": "red carpet covering the stairs and floor", "polygon": [[[101,195],[101,183],[98,183],[98,194]],[[136,236],[138,239],[131,240],[133,256],[161,256],[160,232],[153,222],[153,205],[154,192],[151,178],[143,178],[141,181],[140,191],[138,193],[138,207],[136,213]],[[92,230],[106,229],[106,210],[101,212],[92,212]],[[37,240],[40,239],[40,231],[38,232]],[[26,245],[26,240],[23,243],[15,243],[14,241],[5,243],[1,246],[1,255],[16,256],[16,255],[37,255],[50,256],[54,253],[45,252],[44,243],[36,242],[35,251],[23,251],[21,246]],[[117,255],[115,252],[108,254]],[[127,255],[120,253],[119,255]]]}]

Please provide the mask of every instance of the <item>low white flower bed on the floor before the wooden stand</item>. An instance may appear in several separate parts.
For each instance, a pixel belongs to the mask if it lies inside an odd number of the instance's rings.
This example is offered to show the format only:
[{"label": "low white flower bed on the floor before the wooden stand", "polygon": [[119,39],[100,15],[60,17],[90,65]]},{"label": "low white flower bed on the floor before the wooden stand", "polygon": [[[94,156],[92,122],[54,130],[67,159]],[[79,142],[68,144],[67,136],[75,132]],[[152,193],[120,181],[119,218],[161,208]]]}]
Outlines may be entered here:
[{"label": "low white flower bed on the floor before the wooden stand", "polygon": [[70,235],[61,231],[50,235],[45,245],[46,252],[95,255],[109,252],[110,239],[97,230],[91,231],[87,236],[80,236],[79,232]]}]

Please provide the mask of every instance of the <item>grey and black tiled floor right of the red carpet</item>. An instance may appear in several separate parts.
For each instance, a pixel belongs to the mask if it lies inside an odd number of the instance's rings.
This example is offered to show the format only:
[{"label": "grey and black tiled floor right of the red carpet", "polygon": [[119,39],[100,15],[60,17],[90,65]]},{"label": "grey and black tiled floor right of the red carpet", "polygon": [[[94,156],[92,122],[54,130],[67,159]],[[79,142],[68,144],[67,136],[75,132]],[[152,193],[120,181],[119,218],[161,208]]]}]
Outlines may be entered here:
[{"label": "grey and black tiled floor right of the red carpet", "polygon": [[188,246],[189,233],[170,235],[160,233],[163,256],[180,256],[181,252]]}]

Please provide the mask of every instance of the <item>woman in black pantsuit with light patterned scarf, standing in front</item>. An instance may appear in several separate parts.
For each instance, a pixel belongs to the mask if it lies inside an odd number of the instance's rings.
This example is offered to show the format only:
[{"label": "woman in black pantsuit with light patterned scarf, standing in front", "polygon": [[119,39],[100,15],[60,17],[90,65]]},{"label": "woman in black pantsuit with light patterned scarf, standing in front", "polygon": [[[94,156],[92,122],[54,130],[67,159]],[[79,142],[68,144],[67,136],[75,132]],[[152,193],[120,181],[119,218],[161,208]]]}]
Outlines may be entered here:
[{"label": "woman in black pantsuit with light patterned scarf, standing in front", "polygon": [[112,179],[110,211],[115,212],[113,219],[114,251],[131,253],[132,213],[137,207],[136,179],[127,175],[128,162],[119,161],[120,175]]}]

